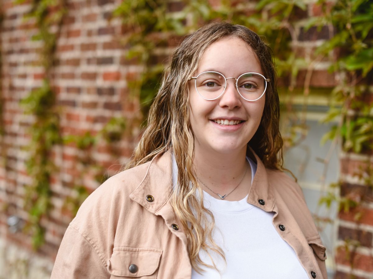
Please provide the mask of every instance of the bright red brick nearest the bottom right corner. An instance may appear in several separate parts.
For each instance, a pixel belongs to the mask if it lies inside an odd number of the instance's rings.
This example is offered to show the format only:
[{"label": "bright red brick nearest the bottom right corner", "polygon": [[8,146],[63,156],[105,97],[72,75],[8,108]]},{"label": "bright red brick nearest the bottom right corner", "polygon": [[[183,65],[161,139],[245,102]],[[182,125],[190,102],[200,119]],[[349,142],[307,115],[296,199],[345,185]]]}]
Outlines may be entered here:
[{"label": "bright red brick nearest the bottom right corner", "polygon": [[[349,259],[350,258],[350,259]],[[336,263],[345,266],[352,266],[354,269],[364,270],[366,272],[373,272],[373,256],[366,256],[358,253],[351,253],[348,255],[344,247],[337,248]]]}]

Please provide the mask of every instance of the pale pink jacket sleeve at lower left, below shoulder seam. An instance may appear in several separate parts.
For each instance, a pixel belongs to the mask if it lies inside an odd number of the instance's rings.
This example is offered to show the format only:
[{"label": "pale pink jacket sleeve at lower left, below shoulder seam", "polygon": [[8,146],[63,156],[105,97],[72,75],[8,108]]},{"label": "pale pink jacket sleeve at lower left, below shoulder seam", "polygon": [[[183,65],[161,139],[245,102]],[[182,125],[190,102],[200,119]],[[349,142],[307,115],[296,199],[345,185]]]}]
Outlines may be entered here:
[{"label": "pale pink jacket sleeve at lower left, below shoulder seam", "polygon": [[94,243],[69,225],[58,250],[51,279],[110,278],[103,255]]}]

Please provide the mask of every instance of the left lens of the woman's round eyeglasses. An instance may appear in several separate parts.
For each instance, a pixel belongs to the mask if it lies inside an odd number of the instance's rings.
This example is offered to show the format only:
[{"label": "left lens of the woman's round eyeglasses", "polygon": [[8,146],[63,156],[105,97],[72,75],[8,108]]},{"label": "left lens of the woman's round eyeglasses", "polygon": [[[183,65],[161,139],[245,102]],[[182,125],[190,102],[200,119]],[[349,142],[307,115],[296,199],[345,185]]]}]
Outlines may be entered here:
[{"label": "left lens of the woman's round eyeglasses", "polygon": [[219,73],[205,72],[198,75],[195,86],[202,97],[213,100],[223,93],[225,78]]}]

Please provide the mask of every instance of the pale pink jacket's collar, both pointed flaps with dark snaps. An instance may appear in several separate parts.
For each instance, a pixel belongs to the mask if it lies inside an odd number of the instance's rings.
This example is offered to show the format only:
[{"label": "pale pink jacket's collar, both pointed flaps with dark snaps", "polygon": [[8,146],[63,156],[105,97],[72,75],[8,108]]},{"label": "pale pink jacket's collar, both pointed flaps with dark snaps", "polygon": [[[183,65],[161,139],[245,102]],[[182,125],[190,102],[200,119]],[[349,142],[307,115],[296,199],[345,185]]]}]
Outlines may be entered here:
[{"label": "pale pink jacket's collar, both pointed flaps with dark snaps", "polygon": [[[275,196],[273,188],[270,187],[267,178],[267,170],[259,159],[258,155],[249,147],[248,155],[257,163],[257,170],[250,187],[247,202],[251,203],[264,211],[273,211],[275,206]],[[140,185],[130,194],[130,198],[148,211],[155,214],[169,200],[172,193],[172,154],[168,150],[163,154],[156,155],[151,161],[142,179]],[[147,195],[154,198],[153,202],[148,202]],[[263,199],[264,205],[258,200]]]}]

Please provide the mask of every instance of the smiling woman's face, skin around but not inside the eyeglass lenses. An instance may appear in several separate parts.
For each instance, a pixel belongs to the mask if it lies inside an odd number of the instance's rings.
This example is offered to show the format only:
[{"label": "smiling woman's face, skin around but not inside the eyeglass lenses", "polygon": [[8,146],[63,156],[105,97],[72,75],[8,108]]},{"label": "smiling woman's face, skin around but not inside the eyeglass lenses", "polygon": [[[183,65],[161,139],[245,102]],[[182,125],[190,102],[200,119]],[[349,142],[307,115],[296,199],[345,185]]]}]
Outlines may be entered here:
[{"label": "smiling woman's face, skin around but not inside the eyeglass lenses", "polygon": [[[204,71],[216,71],[226,78],[238,78],[241,74],[253,72],[263,75],[254,51],[236,37],[220,39],[206,49],[194,77]],[[196,91],[194,79],[189,81],[190,122],[196,150],[224,154],[245,152],[260,124],[265,96],[249,102],[239,95],[235,79],[226,82],[222,96],[205,100]],[[225,120],[231,124],[233,120],[235,125],[218,124],[218,119],[225,124]]]}]

